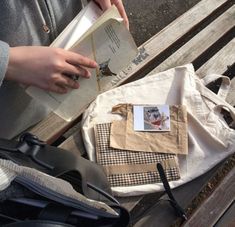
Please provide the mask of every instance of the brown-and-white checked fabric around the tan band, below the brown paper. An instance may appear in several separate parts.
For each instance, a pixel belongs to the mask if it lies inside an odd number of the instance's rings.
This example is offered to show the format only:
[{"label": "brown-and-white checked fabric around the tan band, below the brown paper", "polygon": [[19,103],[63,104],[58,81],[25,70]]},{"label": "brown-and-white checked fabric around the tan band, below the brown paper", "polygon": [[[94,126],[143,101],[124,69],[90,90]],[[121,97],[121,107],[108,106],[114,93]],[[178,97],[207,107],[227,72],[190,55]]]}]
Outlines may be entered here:
[{"label": "brown-and-white checked fabric around the tan band, below the brown paper", "polygon": [[[120,166],[120,171],[118,170],[119,168],[116,168],[117,171],[115,173],[107,172],[107,177],[111,186],[134,186],[161,182],[157,169],[147,172],[143,170],[143,172],[136,173],[123,173],[121,169],[123,166],[128,168],[128,166],[133,167],[135,165],[156,164],[164,160],[176,159],[176,155],[154,152],[137,152],[111,148],[109,146],[110,128],[111,123],[97,124],[95,126],[95,139],[97,163],[103,165],[105,169],[107,169],[107,167]],[[177,164],[165,169],[165,173],[169,181],[180,178]]]}]

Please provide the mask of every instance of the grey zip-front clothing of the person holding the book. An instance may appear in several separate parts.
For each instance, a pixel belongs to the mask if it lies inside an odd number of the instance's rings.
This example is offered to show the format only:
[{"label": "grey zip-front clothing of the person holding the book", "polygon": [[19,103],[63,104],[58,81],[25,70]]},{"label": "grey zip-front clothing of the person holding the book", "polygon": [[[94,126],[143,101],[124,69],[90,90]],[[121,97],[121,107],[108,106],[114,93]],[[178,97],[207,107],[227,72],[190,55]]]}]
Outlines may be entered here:
[{"label": "grey zip-front clothing of the person holding the book", "polygon": [[[3,42],[0,42],[0,84],[4,80],[8,63],[8,44],[10,47],[47,46],[81,8],[79,0],[1,0],[0,40]],[[50,28],[50,33],[43,30],[43,20]],[[16,136],[49,113],[18,84],[6,81],[0,87],[0,107],[2,138]]]}]

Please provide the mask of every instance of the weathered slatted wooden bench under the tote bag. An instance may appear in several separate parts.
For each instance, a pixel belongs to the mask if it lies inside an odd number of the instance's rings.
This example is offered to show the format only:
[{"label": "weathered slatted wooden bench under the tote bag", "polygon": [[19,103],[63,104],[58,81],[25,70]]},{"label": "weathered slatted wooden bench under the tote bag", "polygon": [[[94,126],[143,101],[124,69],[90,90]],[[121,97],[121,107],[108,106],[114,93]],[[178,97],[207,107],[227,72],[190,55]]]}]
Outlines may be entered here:
[{"label": "weathered slatted wooden bench under the tote bag", "polygon": [[[235,5],[234,0],[202,0],[182,16],[177,18],[162,31],[139,47],[139,55],[123,70],[107,90],[121,84],[139,79],[145,75],[151,76],[155,72],[192,62],[199,77],[209,73],[229,75],[235,72]],[[235,105],[235,79],[232,80],[227,101]],[[50,144],[84,154],[84,146],[80,132],[81,110],[76,120],[65,122],[55,114],[50,114],[46,119],[32,128],[31,132],[40,139]],[[230,160],[234,160],[234,156]],[[187,213],[195,210],[192,201],[198,197],[199,192],[208,186],[213,177],[224,166],[227,160],[214,167],[207,174],[182,185],[173,190],[176,199],[183,208],[190,208]],[[234,165],[234,162],[233,162]],[[230,184],[233,184],[231,187]],[[208,202],[201,205],[189,218],[186,226],[211,226],[226,223],[234,215],[234,168],[224,176],[224,179],[208,197]],[[230,196],[220,198],[223,207],[214,212],[213,205],[218,199],[221,190],[228,190]],[[175,226],[181,224],[174,210],[162,192],[130,198],[119,198],[127,207],[135,226]],[[161,199],[161,200],[159,200]],[[158,201],[158,202],[157,202]],[[210,204],[210,205],[208,205]],[[209,208],[208,208],[209,206]],[[151,208],[151,209],[150,209]],[[211,209],[211,210],[210,210]],[[191,215],[191,214],[190,214]],[[230,215],[230,216],[229,216]],[[197,222],[198,217],[207,221]],[[154,223],[154,224],[153,224]],[[206,224],[205,224],[206,223]],[[227,222],[228,223],[228,222]],[[218,225],[219,226],[219,225]]]}]

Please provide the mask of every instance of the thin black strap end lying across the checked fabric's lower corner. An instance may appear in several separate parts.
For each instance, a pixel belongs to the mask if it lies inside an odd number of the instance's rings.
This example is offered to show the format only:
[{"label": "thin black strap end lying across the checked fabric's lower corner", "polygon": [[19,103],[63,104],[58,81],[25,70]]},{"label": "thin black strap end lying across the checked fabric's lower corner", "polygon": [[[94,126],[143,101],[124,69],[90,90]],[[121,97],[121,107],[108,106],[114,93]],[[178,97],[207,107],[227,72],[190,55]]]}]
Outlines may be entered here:
[{"label": "thin black strap end lying across the checked fabric's lower corner", "polygon": [[166,190],[166,193],[170,199],[169,201],[170,201],[171,206],[175,209],[177,216],[183,218],[184,220],[187,220],[187,216],[185,214],[184,209],[178,204],[178,202],[176,201],[175,197],[172,194],[170,185],[169,185],[168,180],[166,178],[166,174],[165,174],[164,169],[160,163],[157,163],[157,170],[159,172],[159,175],[160,175],[161,181],[163,183],[163,186]]}]

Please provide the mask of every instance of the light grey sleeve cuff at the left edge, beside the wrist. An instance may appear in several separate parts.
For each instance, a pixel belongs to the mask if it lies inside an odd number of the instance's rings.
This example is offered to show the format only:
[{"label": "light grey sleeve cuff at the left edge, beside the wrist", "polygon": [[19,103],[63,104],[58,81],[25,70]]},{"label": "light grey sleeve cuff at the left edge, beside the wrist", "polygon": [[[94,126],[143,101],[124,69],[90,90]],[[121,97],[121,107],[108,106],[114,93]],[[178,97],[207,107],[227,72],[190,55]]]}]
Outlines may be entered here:
[{"label": "light grey sleeve cuff at the left edge, beside the wrist", "polygon": [[9,61],[9,45],[0,41],[0,86],[5,77]]}]

